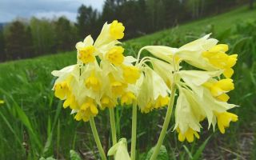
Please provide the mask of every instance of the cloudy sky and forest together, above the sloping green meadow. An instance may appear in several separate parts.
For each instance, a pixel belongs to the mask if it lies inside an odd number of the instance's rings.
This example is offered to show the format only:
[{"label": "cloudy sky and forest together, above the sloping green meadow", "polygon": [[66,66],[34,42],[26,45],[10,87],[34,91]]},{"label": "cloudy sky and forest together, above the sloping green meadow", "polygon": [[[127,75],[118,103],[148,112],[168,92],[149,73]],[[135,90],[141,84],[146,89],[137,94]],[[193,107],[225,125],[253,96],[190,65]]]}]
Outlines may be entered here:
[{"label": "cloudy sky and forest together, above the sloping green meadow", "polygon": [[130,39],[246,3],[253,7],[253,0],[1,0],[0,61],[74,50],[114,19],[124,23]]}]

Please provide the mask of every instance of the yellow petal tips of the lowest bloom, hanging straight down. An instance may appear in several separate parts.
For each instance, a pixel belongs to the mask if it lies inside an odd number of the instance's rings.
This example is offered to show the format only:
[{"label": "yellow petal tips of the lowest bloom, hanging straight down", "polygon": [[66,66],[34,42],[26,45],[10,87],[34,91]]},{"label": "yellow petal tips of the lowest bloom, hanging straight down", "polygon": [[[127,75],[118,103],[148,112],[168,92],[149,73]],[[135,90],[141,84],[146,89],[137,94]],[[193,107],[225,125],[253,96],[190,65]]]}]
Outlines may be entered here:
[{"label": "yellow petal tips of the lowest bloom, hanging straight down", "polygon": [[195,130],[192,130],[191,128],[186,130],[184,134],[182,134],[182,132],[179,129],[176,129],[176,130],[178,132],[178,140],[180,142],[184,142],[185,139],[187,140],[187,142],[193,142],[194,136],[198,139],[200,138],[198,132]]}]

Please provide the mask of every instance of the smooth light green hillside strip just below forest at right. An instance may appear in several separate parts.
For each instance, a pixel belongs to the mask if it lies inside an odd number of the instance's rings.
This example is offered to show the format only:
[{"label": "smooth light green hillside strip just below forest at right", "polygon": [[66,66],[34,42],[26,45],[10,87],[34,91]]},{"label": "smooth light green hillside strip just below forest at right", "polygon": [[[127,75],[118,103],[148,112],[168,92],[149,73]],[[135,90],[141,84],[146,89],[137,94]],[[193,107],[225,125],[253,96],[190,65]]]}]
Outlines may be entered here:
[{"label": "smooth light green hillside strip just below forest at right", "polygon": [[[213,31],[211,26],[214,26],[214,31],[222,32],[244,21],[255,20],[256,10],[248,10],[247,6],[231,10],[225,14],[216,15],[213,17],[203,18],[194,22],[189,22],[181,26],[174,27],[169,30],[163,30],[154,34],[146,35],[141,38],[135,38],[128,41],[129,43],[138,43],[139,45],[146,46],[161,42],[164,38],[176,38],[187,34],[210,34]],[[173,46],[173,45],[172,45]]]}]

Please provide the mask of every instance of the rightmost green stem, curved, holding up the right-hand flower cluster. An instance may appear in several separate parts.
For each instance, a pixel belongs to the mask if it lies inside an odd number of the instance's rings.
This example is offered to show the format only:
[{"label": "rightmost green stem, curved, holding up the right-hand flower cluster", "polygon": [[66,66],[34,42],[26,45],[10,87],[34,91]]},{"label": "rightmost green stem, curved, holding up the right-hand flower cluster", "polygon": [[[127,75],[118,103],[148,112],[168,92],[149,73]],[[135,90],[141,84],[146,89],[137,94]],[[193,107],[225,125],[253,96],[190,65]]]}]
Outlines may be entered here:
[{"label": "rightmost green stem, curved, holding up the right-hand flower cluster", "polygon": [[160,147],[162,146],[163,139],[166,136],[166,130],[167,130],[168,126],[169,126],[170,116],[171,116],[171,113],[172,113],[172,110],[173,110],[173,106],[174,106],[175,92],[176,92],[176,86],[173,85],[171,87],[170,102],[169,102],[169,105],[168,105],[168,108],[167,108],[166,118],[165,118],[165,121],[163,122],[163,125],[162,125],[162,130],[161,130],[160,136],[158,138],[158,143],[154,147],[154,152],[153,152],[150,160],[155,160],[157,158],[157,156],[159,154],[159,151],[160,151]]}]

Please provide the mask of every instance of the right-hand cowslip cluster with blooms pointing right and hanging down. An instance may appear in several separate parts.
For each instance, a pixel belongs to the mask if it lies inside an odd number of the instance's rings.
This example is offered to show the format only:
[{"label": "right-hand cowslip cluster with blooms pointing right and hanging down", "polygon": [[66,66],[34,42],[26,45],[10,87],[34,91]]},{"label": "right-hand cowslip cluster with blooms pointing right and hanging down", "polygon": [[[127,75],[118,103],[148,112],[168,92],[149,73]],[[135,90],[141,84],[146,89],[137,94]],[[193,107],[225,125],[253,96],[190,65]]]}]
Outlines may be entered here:
[{"label": "right-hand cowslip cluster with blooms pointing right and hanging down", "polygon": [[[226,44],[217,44],[218,40],[206,35],[180,48],[168,46],[145,46],[159,60],[150,58],[156,73],[166,82],[170,90],[178,89],[175,109],[174,130],[178,140],[193,142],[199,138],[202,128],[200,122],[207,118],[210,126],[222,134],[230,122],[236,122],[238,116],[230,110],[236,105],[229,104],[228,92],[234,90],[231,79],[232,67],[237,61],[237,54],[228,55]],[[141,51],[142,51],[141,50]],[[140,51],[140,52],[141,52]],[[183,70],[181,62],[186,62],[198,70]]]}]

